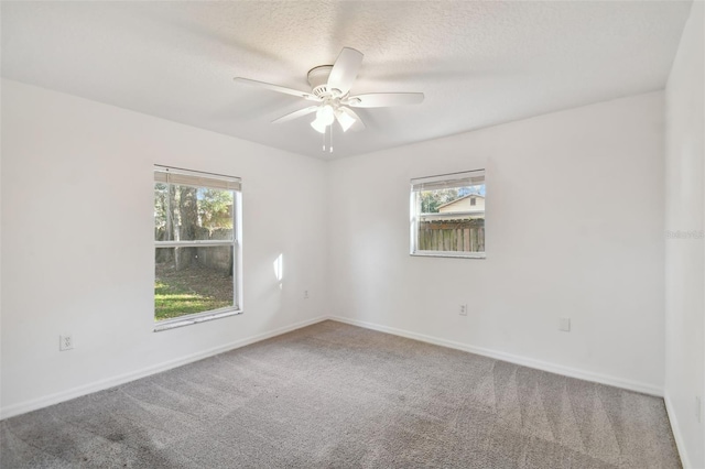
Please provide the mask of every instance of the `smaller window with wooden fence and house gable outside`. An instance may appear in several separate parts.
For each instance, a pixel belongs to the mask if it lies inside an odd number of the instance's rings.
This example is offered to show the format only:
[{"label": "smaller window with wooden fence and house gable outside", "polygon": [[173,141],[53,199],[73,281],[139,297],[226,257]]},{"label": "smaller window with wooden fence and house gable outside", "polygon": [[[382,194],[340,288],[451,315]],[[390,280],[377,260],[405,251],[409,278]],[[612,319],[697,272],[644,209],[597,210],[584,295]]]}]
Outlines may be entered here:
[{"label": "smaller window with wooden fence and house gable outside", "polygon": [[485,258],[485,171],[411,179],[411,253]]}]

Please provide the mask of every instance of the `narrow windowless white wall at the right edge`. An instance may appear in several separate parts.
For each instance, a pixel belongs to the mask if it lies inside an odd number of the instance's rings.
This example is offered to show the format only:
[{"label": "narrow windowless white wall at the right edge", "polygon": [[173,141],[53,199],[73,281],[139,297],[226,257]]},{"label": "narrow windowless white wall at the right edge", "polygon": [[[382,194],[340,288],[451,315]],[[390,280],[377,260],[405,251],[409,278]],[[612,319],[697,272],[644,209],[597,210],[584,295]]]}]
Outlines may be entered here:
[{"label": "narrow windowless white wall at the right edge", "polygon": [[[666,86],[665,228],[694,238],[665,241],[665,401],[685,467],[705,467],[705,8],[693,2]],[[703,421],[701,410],[701,421]]]}]

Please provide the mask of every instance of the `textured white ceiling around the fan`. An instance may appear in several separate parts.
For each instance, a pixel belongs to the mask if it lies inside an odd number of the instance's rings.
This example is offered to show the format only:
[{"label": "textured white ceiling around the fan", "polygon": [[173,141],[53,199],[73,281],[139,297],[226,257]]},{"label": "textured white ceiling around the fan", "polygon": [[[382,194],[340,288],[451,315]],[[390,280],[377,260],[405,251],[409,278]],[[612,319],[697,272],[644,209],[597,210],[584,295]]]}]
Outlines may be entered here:
[{"label": "textured white ceiling around the fan", "polygon": [[[7,2],[2,75],[318,157],[341,157],[663,88],[691,2]],[[308,90],[343,46],[354,94],[422,91],[360,109],[321,151],[310,103],[232,81]]]}]

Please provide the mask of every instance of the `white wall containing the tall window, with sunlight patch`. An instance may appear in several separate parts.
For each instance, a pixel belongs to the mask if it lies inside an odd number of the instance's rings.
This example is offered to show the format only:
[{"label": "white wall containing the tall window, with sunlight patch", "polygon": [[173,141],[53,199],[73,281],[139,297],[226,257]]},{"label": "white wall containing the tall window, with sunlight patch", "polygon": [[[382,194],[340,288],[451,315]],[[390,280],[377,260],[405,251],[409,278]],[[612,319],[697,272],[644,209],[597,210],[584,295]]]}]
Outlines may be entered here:
[{"label": "white wall containing the tall window, with sunlight patch", "polygon": [[[242,177],[243,315],[152,331],[154,163]],[[325,176],[322,161],[3,80],[2,416],[322,316]]]}]

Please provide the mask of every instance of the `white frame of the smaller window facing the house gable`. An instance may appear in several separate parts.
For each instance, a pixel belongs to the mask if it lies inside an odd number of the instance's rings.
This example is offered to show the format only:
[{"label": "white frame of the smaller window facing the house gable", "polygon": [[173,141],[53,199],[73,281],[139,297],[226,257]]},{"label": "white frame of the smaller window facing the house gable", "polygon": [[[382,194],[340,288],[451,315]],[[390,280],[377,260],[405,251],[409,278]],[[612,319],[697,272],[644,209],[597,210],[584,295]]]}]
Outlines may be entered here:
[{"label": "white frame of the smaller window facing the house gable", "polygon": [[[464,171],[459,173],[440,174],[427,177],[416,177],[411,179],[411,194],[409,200],[409,227],[410,227],[410,255],[431,257],[431,258],[463,258],[463,259],[486,259],[487,258],[487,231],[485,231],[485,251],[431,251],[420,250],[419,246],[419,216],[421,214],[421,192],[442,188],[465,187],[470,185],[485,185],[487,193],[487,184],[485,178],[485,170]],[[485,195],[485,200],[487,196]],[[487,206],[485,206],[485,222],[487,226]],[[457,215],[470,215],[475,210],[467,212],[458,212]]]}]

